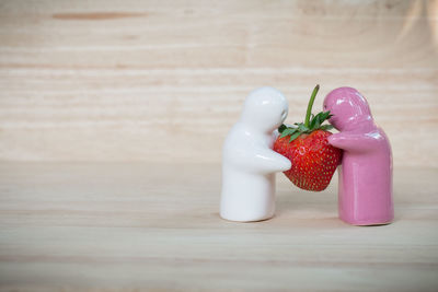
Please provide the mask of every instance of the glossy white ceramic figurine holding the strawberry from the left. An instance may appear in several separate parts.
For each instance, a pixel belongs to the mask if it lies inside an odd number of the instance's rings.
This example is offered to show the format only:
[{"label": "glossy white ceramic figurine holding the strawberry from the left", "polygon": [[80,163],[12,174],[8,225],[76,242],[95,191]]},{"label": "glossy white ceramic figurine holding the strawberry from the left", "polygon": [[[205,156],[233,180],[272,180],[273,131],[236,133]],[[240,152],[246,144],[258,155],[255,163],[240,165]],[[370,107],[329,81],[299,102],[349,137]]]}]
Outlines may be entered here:
[{"label": "glossy white ceramic figurine holding the strawberry from the left", "polygon": [[261,221],[275,213],[275,173],[291,165],[274,152],[276,129],[288,115],[288,102],[273,87],[250,93],[222,152],[220,215],[230,221]]}]

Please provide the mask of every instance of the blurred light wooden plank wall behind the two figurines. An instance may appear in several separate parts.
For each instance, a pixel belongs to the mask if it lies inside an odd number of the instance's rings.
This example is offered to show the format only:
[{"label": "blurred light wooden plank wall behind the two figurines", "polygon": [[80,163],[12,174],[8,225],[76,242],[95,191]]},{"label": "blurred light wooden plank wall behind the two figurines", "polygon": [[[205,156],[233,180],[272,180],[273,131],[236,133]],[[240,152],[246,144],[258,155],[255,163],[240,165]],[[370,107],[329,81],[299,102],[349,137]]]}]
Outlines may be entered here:
[{"label": "blurred light wooden plank wall behind the two figurines", "polygon": [[0,160],[220,162],[245,95],[359,89],[438,163],[438,1],[0,1]]}]

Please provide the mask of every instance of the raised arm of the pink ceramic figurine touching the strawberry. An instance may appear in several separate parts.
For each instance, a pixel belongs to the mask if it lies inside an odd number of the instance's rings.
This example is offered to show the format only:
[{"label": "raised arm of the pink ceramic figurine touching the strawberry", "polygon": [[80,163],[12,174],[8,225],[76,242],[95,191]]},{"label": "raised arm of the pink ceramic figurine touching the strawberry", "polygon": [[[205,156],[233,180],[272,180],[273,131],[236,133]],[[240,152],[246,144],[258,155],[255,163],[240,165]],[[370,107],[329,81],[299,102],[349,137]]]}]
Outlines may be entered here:
[{"label": "raised arm of the pink ceramic figurine touching the strawberry", "polygon": [[343,150],[367,151],[374,149],[381,142],[381,136],[338,132],[331,135],[327,140],[330,144]]}]

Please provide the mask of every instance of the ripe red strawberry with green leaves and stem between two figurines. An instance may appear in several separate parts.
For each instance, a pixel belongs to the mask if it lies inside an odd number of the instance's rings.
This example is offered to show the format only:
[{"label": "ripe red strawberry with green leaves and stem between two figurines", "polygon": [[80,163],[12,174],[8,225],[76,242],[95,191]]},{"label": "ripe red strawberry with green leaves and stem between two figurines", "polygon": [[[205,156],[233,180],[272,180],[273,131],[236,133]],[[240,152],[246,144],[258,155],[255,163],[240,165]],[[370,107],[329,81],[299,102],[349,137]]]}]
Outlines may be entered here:
[{"label": "ripe red strawberry with green leaves and stem between two figurines", "polygon": [[312,191],[324,190],[332,179],[342,159],[342,150],[328,144],[331,125],[322,125],[332,117],[330,112],[321,112],[311,117],[312,106],[320,85],[310,97],[304,122],[296,127],[281,125],[280,136],[274,143],[274,151],[288,157],[292,167],[284,174],[299,188]]}]

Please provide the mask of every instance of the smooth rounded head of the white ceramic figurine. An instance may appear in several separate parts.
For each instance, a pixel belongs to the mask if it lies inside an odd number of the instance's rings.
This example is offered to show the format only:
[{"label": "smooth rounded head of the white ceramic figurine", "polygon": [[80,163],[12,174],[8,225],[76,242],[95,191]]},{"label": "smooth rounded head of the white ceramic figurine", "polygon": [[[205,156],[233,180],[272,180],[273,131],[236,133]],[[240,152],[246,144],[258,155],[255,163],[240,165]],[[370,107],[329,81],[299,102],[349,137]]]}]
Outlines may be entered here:
[{"label": "smooth rounded head of the white ceramic figurine", "polygon": [[261,87],[246,97],[241,121],[261,131],[274,131],[288,115],[288,102],[276,89]]}]

